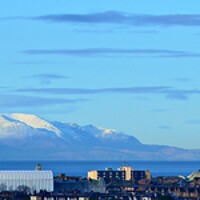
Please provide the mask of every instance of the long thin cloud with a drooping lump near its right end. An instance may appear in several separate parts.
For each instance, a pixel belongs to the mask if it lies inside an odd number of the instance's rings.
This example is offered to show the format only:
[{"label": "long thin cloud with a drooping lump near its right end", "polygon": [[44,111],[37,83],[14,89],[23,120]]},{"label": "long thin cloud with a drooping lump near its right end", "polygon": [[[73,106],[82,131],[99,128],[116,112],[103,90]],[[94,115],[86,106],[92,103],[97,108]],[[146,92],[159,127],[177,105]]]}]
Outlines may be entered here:
[{"label": "long thin cloud with a drooping lump near its right end", "polygon": [[158,87],[127,87],[127,88],[24,88],[16,92],[42,93],[53,95],[92,95],[92,94],[160,94],[167,99],[187,100],[190,95],[200,94],[200,90],[178,90],[168,86]]}]

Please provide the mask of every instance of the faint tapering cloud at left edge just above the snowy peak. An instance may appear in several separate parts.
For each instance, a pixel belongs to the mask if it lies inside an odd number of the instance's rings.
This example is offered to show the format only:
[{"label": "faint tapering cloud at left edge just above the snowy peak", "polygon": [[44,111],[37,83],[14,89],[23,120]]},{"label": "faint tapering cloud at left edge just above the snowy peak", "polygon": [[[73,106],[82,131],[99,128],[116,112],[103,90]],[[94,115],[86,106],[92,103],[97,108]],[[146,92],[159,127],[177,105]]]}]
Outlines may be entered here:
[{"label": "faint tapering cloud at left edge just above the snowy peak", "polygon": [[38,107],[53,104],[73,104],[86,99],[43,98],[23,95],[0,95],[0,107]]}]

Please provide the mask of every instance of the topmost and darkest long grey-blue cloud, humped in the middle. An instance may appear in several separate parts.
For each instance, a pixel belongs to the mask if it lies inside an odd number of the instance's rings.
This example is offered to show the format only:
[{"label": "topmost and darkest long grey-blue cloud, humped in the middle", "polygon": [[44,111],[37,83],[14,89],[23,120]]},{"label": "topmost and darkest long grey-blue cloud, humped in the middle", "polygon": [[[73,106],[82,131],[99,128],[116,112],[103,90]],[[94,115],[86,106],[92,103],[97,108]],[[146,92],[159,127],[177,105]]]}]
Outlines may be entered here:
[{"label": "topmost and darkest long grey-blue cloud, humped in the middle", "polygon": [[200,26],[200,15],[173,14],[151,15],[133,14],[120,11],[106,11],[88,14],[50,14],[29,17],[30,20],[39,20],[54,23],[79,24],[119,24],[128,26]]}]

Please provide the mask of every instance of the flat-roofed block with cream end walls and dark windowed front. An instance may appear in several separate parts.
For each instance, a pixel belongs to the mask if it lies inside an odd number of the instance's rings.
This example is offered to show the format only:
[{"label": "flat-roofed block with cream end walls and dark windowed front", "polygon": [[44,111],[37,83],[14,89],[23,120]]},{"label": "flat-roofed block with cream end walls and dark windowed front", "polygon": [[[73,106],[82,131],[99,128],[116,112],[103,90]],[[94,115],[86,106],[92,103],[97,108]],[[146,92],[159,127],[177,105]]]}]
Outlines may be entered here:
[{"label": "flat-roofed block with cream end walls and dark windowed front", "polygon": [[132,167],[128,166],[122,166],[118,170],[106,168],[105,170],[92,170],[88,172],[88,179],[98,180],[99,178],[104,178],[106,181],[150,180],[151,173],[144,170],[133,170]]}]

